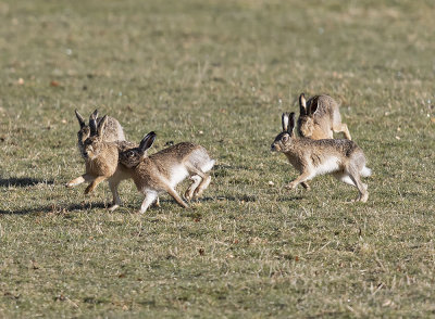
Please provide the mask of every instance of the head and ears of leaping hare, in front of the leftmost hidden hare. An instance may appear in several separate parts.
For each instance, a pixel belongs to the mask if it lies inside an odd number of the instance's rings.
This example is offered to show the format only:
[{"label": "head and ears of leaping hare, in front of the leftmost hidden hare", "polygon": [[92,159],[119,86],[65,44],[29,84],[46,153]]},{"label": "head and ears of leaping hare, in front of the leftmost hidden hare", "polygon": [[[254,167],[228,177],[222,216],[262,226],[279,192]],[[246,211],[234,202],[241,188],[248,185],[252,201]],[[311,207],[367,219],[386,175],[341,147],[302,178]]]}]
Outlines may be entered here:
[{"label": "head and ears of leaping hare, in front of the leftmost hidden hare", "polygon": [[104,115],[100,123],[97,125],[97,118],[95,117],[94,112],[89,117],[89,137],[84,142],[84,151],[83,156],[85,158],[94,160],[96,156],[100,154],[100,152],[104,149],[103,135],[104,135],[104,126],[108,120],[108,116]]}]

